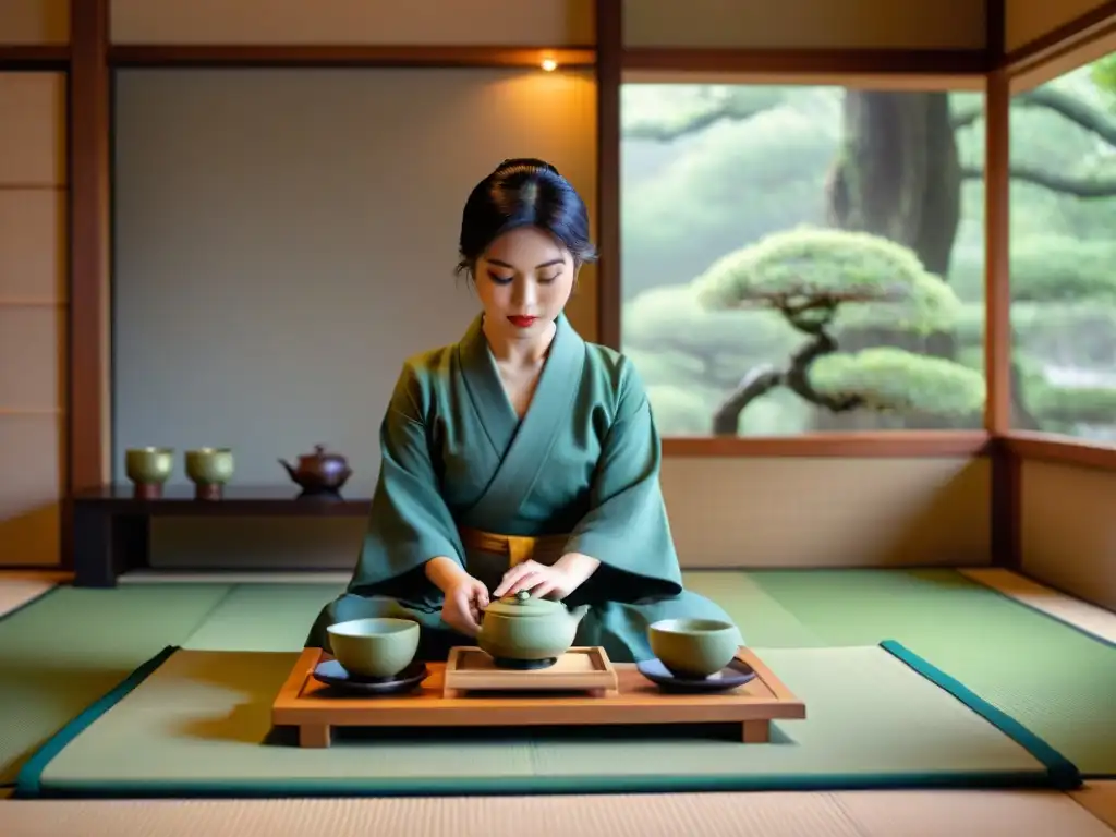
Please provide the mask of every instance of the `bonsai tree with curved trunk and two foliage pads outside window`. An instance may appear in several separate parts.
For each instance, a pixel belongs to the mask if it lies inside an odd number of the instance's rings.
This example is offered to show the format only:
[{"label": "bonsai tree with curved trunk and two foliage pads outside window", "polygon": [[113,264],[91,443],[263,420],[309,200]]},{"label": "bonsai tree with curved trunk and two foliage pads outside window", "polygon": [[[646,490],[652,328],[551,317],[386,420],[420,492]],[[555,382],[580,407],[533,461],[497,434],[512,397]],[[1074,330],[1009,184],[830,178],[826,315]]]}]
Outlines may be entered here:
[{"label": "bonsai tree with curved trunk and two foliage pads outside window", "polygon": [[786,364],[743,371],[714,411],[716,435],[735,435],[741,413],[779,387],[831,413],[955,421],[983,408],[984,376],[961,364],[885,346],[839,352],[841,320],[923,334],[952,329],[960,301],[908,248],[864,232],[799,228],[718,259],[694,285],[708,308],[768,308],[805,338]]}]

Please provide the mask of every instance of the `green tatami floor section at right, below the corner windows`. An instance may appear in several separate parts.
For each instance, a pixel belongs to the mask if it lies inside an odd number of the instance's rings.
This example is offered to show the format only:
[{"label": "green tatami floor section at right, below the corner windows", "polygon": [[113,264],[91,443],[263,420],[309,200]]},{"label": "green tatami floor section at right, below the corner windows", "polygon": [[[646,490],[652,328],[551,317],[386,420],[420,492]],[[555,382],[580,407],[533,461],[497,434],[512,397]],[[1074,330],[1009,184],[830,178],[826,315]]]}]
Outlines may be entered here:
[{"label": "green tatami floor section at right, below the corner windows", "polygon": [[[1116,647],[950,569],[764,569],[748,576],[817,644],[895,639],[1086,776],[1116,777],[1116,715],[1109,709]],[[747,613],[729,613],[747,626]],[[1036,653],[1042,676],[1036,676]]]}]

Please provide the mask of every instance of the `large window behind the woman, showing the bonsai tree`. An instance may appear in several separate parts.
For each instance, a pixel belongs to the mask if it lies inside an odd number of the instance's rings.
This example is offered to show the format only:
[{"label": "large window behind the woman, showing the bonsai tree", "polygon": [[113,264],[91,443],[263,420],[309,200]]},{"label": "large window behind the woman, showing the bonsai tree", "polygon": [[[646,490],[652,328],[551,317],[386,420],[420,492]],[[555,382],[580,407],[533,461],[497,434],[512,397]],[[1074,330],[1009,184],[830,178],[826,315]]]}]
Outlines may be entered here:
[{"label": "large window behind the woman, showing the bonsai tree", "polygon": [[982,112],[623,86],[620,339],[664,436],[983,425]]}]

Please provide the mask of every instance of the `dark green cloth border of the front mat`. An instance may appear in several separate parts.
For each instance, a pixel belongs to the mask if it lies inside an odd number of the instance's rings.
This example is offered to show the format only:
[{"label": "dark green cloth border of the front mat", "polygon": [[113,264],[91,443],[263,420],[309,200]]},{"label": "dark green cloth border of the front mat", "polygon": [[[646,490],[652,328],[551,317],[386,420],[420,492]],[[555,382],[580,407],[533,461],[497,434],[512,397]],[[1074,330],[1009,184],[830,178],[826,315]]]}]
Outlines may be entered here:
[{"label": "dark green cloth border of the front mat", "polygon": [[[16,799],[220,799],[292,797],[424,797],[424,796],[517,796],[557,793],[670,793],[684,791],[778,791],[778,790],[886,790],[934,788],[1055,788],[1071,790],[1083,783],[1077,767],[1019,721],[991,705],[902,643],[885,639],[879,647],[912,671],[961,701],[998,730],[1027,750],[1046,772],[1007,771],[1002,773],[898,773],[885,777],[864,775],[821,775],[771,778],[763,776],[729,777],[497,777],[487,779],[441,778],[415,781],[408,778],[295,780],[270,788],[240,786],[237,782],[167,783],[158,788],[121,782],[86,782],[83,787],[45,786],[42,773],[66,747],[93,723],[119,703],[181,650],[167,645],[121,681],[113,690],[65,724],[23,763],[16,777]],[[373,786],[373,787],[369,787]]]}]

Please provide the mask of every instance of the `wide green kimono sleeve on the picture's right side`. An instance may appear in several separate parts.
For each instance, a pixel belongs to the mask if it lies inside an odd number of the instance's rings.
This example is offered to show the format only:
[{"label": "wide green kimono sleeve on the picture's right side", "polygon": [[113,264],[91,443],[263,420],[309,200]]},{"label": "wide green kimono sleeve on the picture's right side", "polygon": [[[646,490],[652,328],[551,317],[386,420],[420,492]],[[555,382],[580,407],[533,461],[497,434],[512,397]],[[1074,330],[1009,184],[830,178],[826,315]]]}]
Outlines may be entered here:
[{"label": "wide green kimono sleeve on the picture's right side", "polygon": [[620,376],[616,417],[590,489],[590,509],[566,545],[600,561],[578,598],[614,602],[682,593],[658,475],[662,450],[651,403],[635,369]]}]

